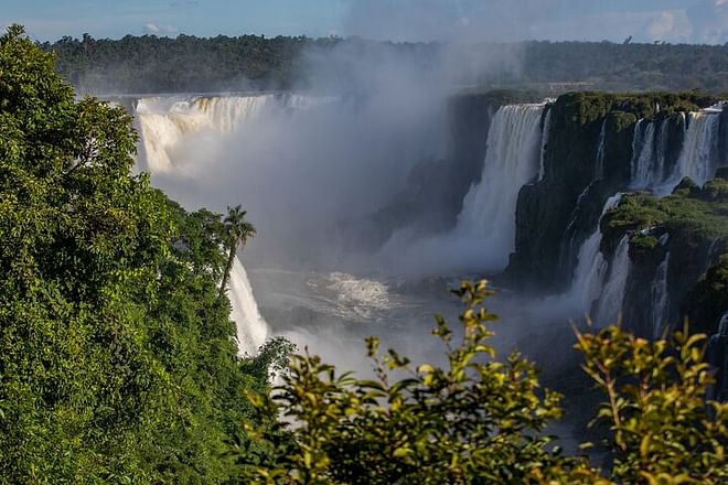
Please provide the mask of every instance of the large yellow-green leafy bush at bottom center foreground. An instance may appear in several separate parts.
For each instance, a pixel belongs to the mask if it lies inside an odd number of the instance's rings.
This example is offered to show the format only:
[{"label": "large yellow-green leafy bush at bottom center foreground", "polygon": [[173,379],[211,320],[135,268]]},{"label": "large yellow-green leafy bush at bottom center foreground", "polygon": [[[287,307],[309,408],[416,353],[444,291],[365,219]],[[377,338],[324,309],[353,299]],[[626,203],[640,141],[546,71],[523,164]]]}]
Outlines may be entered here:
[{"label": "large yellow-green leafy bush at bottom center foreground", "polygon": [[[535,468],[559,466],[572,478],[592,478],[581,459],[560,456],[539,436],[560,416],[560,397],[542,391],[534,366],[517,353],[496,359],[488,344],[494,315],[481,308],[485,282],[463,283],[462,336],[441,317],[432,331],[443,344],[445,367],[413,366],[378,341],[367,341],[374,379],[338,374],[319,357],[295,358],[270,399],[255,398],[297,423],[279,440],[276,460],[248,467],[246,479],[290,484],[525,483]],[[275,443],[286,425],[258,430]],[[256,430],[250,429],[254,433]]]}]

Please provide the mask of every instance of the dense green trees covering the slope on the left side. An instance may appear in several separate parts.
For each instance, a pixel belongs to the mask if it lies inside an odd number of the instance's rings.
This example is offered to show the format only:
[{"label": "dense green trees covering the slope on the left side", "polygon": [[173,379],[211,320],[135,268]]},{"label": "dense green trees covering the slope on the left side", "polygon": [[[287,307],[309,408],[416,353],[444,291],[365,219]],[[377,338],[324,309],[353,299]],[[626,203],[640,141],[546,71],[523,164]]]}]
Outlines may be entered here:
[{"label": "dense green trees covering the slope on the left side", "polygon": [[129,116],[53,63],[0,37],[0,483],[227,482],[287,347],[237,356],[221,216],[130,175]]}]

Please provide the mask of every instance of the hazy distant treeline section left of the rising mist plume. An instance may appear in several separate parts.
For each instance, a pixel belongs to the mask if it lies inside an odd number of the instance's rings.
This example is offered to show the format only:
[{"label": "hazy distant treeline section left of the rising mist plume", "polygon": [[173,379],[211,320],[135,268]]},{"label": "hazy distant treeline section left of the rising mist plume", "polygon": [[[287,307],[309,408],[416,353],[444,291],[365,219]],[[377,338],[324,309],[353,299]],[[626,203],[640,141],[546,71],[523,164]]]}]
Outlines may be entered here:
[{"label": "hazy distant treeline section left of the rising mist plume", "polygon": [[332,41],[257,35],[176,39],[127,35],[118,41],[63,37],[42,47],[77,89],[92,93],[175,93],[286,89],[302,48]]}]

